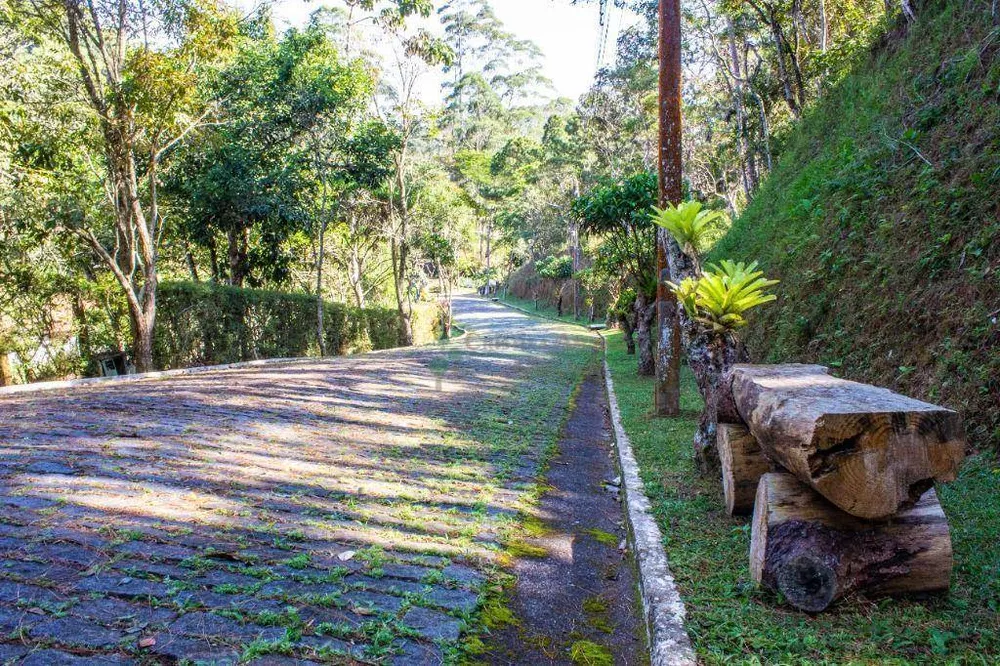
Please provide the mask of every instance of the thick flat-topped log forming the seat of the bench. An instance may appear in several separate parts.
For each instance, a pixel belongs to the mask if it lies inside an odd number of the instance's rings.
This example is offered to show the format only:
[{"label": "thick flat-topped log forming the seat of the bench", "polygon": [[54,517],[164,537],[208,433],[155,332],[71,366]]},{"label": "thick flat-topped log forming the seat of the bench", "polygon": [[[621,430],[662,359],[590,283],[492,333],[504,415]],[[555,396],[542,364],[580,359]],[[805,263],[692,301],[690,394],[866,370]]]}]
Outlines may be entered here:
[{"label": "thick flat-topped log forming the seat of the bench", "polygon": [[732,401],[772,460],[844,511],[881,519],[965,456],[957,412],[849,382],[811,365],[738,365]]}]

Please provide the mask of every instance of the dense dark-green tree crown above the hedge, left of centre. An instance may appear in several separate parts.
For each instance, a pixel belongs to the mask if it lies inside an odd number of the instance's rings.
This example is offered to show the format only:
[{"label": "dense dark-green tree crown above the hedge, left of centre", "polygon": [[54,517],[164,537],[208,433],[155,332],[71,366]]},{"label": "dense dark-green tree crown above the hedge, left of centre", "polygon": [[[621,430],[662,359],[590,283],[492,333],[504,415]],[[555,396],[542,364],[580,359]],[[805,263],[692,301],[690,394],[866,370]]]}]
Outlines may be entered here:
[{"label": "dense dark-green tree crown above the hedge, left of centre", "polygon": [[[373,82],[360,63],[343,62],[317,25],[290,30],[280,40],[247,40],[236,56],[203,84],[227,121],[202,133],[182,152],[168,181],[183,212],[185,235],[210,252],[215,279],[253,286],[287,281],[294,261],[291,237],[307,227],[309,169],[303,141],[319,124],[340,139],[334,152],[349,153],[320,167],[342,180],[384,179],[384,151],[393,137],[368,124],[355,134],[351,121]],[[355,158],[357,154],[357,158]]]}]

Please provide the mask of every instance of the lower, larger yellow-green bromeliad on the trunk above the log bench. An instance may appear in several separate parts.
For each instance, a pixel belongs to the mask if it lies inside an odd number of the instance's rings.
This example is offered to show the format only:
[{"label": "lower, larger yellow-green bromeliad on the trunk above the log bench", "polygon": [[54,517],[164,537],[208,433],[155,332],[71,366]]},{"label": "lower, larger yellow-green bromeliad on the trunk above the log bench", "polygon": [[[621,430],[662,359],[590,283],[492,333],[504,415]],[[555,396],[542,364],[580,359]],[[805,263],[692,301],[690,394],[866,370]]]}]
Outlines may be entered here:
[{"label": "lower, larger yellow-green bromeliad on the trunk above the log bench", "polygon": [[766,279],[764,272],[757,270],[756,261],[748,265],[723,260],[709,265],[698,278],[669,284],[689,317],[724,333],[746,326],[743,315],[747,310],[775,300],[776,296],[764,290],[778,281]]}]

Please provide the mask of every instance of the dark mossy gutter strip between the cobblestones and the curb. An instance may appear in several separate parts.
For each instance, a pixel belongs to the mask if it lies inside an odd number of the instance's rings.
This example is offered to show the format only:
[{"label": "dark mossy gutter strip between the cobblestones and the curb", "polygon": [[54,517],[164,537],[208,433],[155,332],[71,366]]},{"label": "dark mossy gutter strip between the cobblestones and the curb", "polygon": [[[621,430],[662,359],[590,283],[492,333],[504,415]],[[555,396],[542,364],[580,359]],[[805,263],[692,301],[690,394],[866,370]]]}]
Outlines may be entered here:
[{"label": "dark mossy gutter strip between the cobblestones and the curb", "polygon": [[491,664],[648,662],[632,554],[619,549],[624,510],[607,409],[593,368],[551,461],[537,513],[544,527],[525,540],[546,555],[516,561],[517,623],[493,631]]}]

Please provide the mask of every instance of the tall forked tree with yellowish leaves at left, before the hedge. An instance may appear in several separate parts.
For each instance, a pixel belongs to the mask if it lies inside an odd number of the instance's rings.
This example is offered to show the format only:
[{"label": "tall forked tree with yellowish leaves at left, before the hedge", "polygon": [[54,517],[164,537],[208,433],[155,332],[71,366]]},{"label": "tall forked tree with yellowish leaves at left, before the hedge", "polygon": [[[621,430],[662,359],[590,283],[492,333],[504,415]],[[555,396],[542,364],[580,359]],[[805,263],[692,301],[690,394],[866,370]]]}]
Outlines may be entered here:
[{"label": "tall forked tree with yellowish leaves at left, before the hedge", "polygon": [[166,0],[13,0],[41,39],[65,48],[95,137],[110,225],[90,211],[66,229],[83,238],[128,302],[133,355],[153,370],[157,259],[166,232],[160,210],[163,161],[210,115],[194,94],[199,63],[238,31],[238,18],[212,3]]}]

